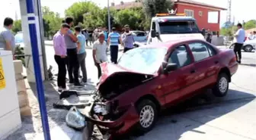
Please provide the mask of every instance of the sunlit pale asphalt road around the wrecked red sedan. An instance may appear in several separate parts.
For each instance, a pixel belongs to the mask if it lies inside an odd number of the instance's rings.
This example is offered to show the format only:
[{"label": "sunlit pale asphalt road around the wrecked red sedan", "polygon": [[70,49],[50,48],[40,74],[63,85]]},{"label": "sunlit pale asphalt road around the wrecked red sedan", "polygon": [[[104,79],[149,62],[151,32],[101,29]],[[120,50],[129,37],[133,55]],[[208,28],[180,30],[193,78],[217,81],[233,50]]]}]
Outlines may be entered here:
[{"label": "sunlit pale asphalt road around the wrecked red sedan", "polygon": [[[86,67],[88,79],[97,82],[97,69],[94,67],[92,52],[87,51]],[[46,46],[47,63],[56,69],[53,47]],[[119,54],[119,56],[121,53]],[[229,94],[215,98],[210,93],[200,95],[181,110],[168,110],[158,120],[151,132],[142,136],[131,136],[136,140],[256,140],[256,53],[242,52],[242,64],[232,76]],[[184,107],[185,106],[185,107]],[[79,139],[79,138],[77,138]]]}]

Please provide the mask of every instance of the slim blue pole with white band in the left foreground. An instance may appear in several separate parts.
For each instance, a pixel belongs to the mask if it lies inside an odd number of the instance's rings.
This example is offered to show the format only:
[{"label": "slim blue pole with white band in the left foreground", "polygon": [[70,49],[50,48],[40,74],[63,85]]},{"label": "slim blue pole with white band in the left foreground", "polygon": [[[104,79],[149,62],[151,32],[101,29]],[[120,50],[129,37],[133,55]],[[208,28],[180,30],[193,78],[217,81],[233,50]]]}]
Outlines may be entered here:
[{"label": "slim blue pole with white band in the left foreground", "polygon": [[36,29],[36,16],[34,11],[34,0],[26,0],[27,5],[27,20],[30,33],[30,43],[32,48],[32,57],[34,62],[34,72],[37,83],[37,96],[40,107],[41,120],[43,125],[43,135],[45,140],[50,140],[50,129],[47,118],[46,104],[43,93],[43,80],[40,68],[39,51],[37,46],[37,29]]}]

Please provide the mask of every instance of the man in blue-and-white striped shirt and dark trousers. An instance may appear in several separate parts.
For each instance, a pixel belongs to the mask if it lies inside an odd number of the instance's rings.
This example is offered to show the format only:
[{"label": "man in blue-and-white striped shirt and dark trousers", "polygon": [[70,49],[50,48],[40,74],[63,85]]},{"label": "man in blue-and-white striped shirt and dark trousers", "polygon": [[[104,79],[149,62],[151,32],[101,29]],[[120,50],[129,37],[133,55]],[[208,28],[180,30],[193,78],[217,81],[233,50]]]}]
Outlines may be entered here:
[{"label": "man in blue-and-white striped shirt and dark trousers", "polygon": [[117,64],[118,58],[118,45],[123,44],[122,39],[115,27],[112,28],[112,32],[108,35],[107,44],[110,45],[110,57],[111,62]]}]

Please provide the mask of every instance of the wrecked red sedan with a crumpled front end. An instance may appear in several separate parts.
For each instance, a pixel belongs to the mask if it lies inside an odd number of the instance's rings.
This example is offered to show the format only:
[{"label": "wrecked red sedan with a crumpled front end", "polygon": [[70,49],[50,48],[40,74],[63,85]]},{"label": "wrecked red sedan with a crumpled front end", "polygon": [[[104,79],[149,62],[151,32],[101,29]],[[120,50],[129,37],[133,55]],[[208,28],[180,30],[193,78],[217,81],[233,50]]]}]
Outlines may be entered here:
[{"label": "wrecked red sedan with a crumpled front end", "polygon": [[134,48],[118,64],[102,64],[93,100],[82,114],[103,135],[120,135],[132,126],[149,132],[158,113],[205,89],[223,97],[238,64],[232,50],[202,40],[172,41]]}]

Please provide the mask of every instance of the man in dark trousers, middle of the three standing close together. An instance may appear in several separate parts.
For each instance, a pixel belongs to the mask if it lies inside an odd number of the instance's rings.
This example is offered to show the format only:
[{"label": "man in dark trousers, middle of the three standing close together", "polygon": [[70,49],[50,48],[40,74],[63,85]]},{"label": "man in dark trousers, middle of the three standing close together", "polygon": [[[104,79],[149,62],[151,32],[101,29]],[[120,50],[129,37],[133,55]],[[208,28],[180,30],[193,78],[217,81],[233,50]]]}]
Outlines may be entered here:
[{"label": "man in dark trousers, middle of the three standing close together", "polygon": [[[65,23],[69,24],[69,26],[73,25],[73,18],[66,17]],[[73,83],[74,86],[82,86],[78,79],[78,48],[80,48],[80,43],[78,42],[77,37],[74,35],[72,30],[68,30],[68,32],[64,35],[67,55],[68,55],[68,71],[69,71],[69,83]]]}]

